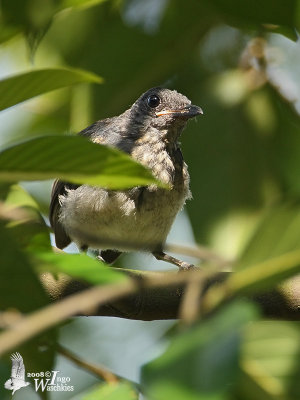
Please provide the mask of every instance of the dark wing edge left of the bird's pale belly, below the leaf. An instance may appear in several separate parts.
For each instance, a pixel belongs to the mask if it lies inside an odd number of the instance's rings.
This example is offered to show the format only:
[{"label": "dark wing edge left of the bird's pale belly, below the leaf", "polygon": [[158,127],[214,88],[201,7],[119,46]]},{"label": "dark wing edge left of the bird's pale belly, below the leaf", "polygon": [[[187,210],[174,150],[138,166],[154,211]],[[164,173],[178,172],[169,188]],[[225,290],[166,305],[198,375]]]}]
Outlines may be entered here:
[{"label": "dark wing edge left of the bird's pale belly, below the leaf", "polygon": [[63,249],[71,243],[71,239],[59,221],[59,212],[61,207],[59,196],[66,194],[68,189],[76,189],[77,187],[78,185],[63,182],[59,179],[55,180],[52,186],[49,219],[54,231],[55,242],[59,249]]}]

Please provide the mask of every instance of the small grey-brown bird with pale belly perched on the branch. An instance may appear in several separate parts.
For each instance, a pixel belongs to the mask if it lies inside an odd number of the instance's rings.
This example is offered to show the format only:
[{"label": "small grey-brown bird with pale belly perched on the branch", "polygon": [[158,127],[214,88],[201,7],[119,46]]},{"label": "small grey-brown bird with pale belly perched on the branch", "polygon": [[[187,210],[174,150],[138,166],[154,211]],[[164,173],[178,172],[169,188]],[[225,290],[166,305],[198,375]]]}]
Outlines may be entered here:
[{"label": "small grey-brown bird with pale belly perched on the branch", "polygon": [[56,180],[50,223],[57,247],[73,241],[81,250],[101,248],[100,258],[107,263],[123,251],[140,249],[189,268],[162,250],[178,211],[191,197],[179,138],[187,121],[199,114],[201,108],[184,95],[158,87],[142,94],[123,114],[81,131],[79,135],[94,143],[130,154],[170,189],[150,185],[116,191]]}]

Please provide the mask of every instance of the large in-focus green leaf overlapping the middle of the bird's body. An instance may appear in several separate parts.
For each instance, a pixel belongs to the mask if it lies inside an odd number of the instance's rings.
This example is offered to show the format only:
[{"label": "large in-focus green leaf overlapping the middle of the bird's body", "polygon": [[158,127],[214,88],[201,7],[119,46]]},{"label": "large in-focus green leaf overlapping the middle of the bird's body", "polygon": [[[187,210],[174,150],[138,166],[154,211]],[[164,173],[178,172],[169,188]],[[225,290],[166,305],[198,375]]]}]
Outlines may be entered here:
[{"label": "large in-focus green leaf overlapping the middle of the bird's body", "polygon": [[110,189],[158,184],[127,154],[81,136],[43,136],[0,152],[0,180],[51,178]]}]

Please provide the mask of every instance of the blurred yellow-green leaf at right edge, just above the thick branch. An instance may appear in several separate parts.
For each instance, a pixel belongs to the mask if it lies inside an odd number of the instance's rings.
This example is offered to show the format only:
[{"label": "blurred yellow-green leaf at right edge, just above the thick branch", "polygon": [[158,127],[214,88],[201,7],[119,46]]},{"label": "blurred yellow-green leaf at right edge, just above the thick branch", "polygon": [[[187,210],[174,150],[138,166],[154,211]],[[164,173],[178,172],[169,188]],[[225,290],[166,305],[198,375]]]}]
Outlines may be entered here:
[{"label": "blurred yellow-green leaf at right edge, just above the thick branch", "polygon": [[296,275],[300,272],[299,238],[298,204],[274,207],[254,232],[237,262],[236,271],[225,283],[225,292],[255,293]]}]

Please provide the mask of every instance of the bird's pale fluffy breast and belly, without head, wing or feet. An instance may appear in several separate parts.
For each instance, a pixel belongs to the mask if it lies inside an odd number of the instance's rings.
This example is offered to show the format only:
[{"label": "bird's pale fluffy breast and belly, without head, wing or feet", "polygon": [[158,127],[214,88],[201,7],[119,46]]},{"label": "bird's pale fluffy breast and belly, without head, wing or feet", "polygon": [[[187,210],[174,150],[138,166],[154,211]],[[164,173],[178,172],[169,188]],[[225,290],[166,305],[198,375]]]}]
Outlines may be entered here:
[{"label": "bird's pale fluffy breast and belly, without head, wing or feet", "polygon": [[110,191],[87,185],[60,197],[60,221],[80,247],[132,250],[158,249],[166,240],[174,218],[190,197],[189,175],[180,149],[140,143],[132,157],[169,185]]}]

